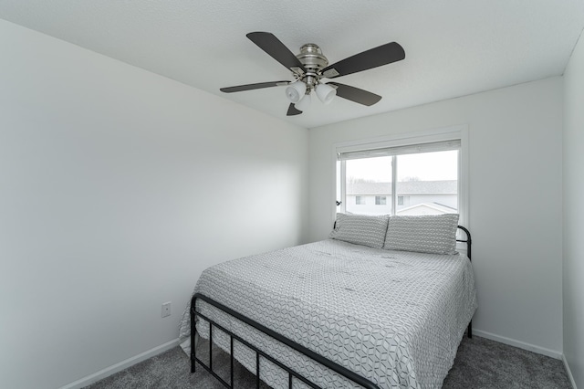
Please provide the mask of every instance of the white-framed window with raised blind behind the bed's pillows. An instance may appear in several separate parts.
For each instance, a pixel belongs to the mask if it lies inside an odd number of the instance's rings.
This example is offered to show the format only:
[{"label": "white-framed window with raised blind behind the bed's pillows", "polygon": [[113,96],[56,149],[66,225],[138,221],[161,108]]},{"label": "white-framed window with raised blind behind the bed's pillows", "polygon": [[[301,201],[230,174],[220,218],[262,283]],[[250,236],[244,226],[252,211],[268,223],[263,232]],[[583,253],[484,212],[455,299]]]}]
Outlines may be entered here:
[{"label": "white-framed window with raised blind behind the bed's pillows", "polygon": [[[465,126],[376,142],[336,145],[337,212],[362,215],[458,213],[468,226]],[[374,204],[347,202],[374,196]],[[372,200],[372,199],[371,199]],[[373,203],[372,201],[370,203]],[[360,204],[361,206],[355,207]]]}]

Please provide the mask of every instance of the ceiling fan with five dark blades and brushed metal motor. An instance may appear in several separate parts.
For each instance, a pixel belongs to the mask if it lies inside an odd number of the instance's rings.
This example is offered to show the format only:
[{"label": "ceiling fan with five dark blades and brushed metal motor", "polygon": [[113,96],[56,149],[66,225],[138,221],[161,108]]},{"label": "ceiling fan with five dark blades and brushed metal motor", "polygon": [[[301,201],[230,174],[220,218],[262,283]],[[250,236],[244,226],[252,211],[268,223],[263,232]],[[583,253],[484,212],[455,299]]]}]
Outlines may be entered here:
[{"label": "ceiling fan with five dark blades and brushed metal motor", "polygon": [[405,51],[396,42],[374,47],[352,57],[345,58],[332,65],[322,54],[320,47],[307,43],[300,47],[300,54],[294,55],[280,40],[268,32],[252,32],[246,35],[272,58],[292,71],[293,81],[270,81],[256,84],[239,85],[221,88],[225,93],[244,90],[263,89],[287,86],[286,95],[290,100],[287,116],[299,115],[306,110],[311,102],[310,94],[314,90],[318,99],[328,104],[335,96],[358,102],[363,105],[373,105],[381,96],[367,90],[351,87],[338,82],[324,83],[322,79],[335,79],[358,71],[377,68],[405,58]]}]

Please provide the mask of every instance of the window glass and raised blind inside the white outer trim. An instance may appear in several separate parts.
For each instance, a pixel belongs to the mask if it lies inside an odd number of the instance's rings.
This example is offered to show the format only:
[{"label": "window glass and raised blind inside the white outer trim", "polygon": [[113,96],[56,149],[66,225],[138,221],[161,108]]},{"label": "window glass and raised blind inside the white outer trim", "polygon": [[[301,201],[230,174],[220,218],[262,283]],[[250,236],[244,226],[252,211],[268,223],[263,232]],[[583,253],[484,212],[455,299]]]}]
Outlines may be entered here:
[{"label": "window glass and raised blind inside the white outer trim", "polygon": [[[460,142],[339,153],[339,212],[459,213]],[[359,206],[357,206],[359,205]]]}]

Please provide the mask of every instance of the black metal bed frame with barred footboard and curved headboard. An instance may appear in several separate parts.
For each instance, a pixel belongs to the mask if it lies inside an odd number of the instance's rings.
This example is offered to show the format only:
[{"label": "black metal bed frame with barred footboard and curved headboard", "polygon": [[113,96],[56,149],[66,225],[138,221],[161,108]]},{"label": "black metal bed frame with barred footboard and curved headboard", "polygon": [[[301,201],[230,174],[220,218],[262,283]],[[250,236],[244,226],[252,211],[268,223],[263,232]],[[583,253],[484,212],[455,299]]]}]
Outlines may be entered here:
[{"label": "black metal bed frame with barred footboard and curved headboard", "polygon": [[[461,230],[464,231],[464,233],[466,234],[466,239],[456,239],[456,241],[466,243],[466,253],[467,253],[466,255],[467,255],[468,259],[470,260],[471,259],[471,244],[472,244],[471,234],[468,231],[468,229],[464,228],[464,226],[458,226],[458,228],[460,228]],[[191,373],[195,372],[196,364],[199,363],[201,366],[203,366],[203,368],[207,372],[211,373],[215,377],[215,379],[217,379],[217,381],[219,381],[221,384],[223,384],[226,388],[234,388],[234,341],[237,341],[237,342],[244,344],[246,347],[248,347],[249,349],[251,349],[255,352],[255,387],[256,388],[259,389],[259,387],[260,387],[260,356],[262,356],[263,358],[266,358],[266,360],[270,361],[271,363],[275,363],[278,367],[280,367],[281,369],[283,369],[284,371],[287,372],[287,374],[288,374],[288,389],[292,389],[292,383],[293,383],[294,378],[297,378],[298,380],[300,380],[304,384],[308,384],[308,386],[310,386],[311,388],[322,389],[318,385],[310,382],[307,378],[302,376],[300,373],[297,373],[294,370],[292,370],[291,368],[284,365],[283,363],[276,361],[275,358],[268,355],[266,352],[259,350],[257,347],[250,344],[249,342],[246,342],[243,338],[236,335],[232,331],[228,331],[227,329],[225,329],[223,326],[221,326],[217,322],[212,321],[207,316],[203,315],[203,313],[197,312],[196,311],[196,301],[199,299],[207,302],[208,304],[213,305],[215,308],[218,308],[219,310],[223,310],[225,313],[235,317],[236,319],[238,319],[240,321],[245,322],[246,324],[254,327],[256,330],[264,332],[266,335],[274,338],[276,341],[286,344],[288,347],[296,350],[297,352],[300,352],[300,353],[308,356],[308,358],[312,359],[313,361],[320,363],[323,366],[328,367],[328,369],[330,369],[336,373],[339,373],[343,377],[349,379],[350,381],[354,382],[355,384],[359,384],[363,388],[380,389],[378,385],[373,384],[372,382],[370,382],[370,380],[362,377],[361,375],[350,371],[349,369],[339,365],[338,363],[334,363],[334,362],[328,360],[327,358],[323,357],[322,355],[318,354],[317,352],[313,352],[313,351],[309,350],[308,348],[302,346],[301,344],[298,344],[297,342],[294,342],[294,341],[288,339],[287,337],[277,333],[276,331],[270,330],[266,326],[258,323],[257,321],[253,321],[253,320],[245,317],[244,315],[242,315],[239,312],[236,312],[235,310],[232,310],[228,307],[225,307],[223,304],[220,304],[219,302],[217,302],[215,300],[209,299],[208,297],[204,296],[201,293],[195,293],[193,295],[192,300],[191,300]],[[196,356],[195,336],[196,336],[196,318],[197,317],[200,317],[204,321],[209,322],[209,364],[208,365],[206,365],[202,360],[200,360]],[[471,320],[468,323],[468,328],[466,331],[466,334],[469,338],[473,337],[472,324],[473,324],[473,321]],[[230,338],[231,369],[230,369],[229,382],[226,382],[221,376],[219,376],[213,370],[213,329],[214,328],[217,328],[220,331],[223,331],[224,333],[229,335],[229,338]]]}]

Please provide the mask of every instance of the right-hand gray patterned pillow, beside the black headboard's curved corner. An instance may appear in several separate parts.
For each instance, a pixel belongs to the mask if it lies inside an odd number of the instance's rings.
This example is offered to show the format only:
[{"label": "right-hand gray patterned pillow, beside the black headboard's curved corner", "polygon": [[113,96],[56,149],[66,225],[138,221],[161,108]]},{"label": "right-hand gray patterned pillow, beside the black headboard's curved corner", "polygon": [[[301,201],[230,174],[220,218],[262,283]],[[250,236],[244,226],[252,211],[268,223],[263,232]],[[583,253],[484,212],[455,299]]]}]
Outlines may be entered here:
[{"label": "right-hand gray patterned pillow, beside the black headboard's curved corner", "polygon": [[456,254],[458,214],[391,216],[383,248]]}]

